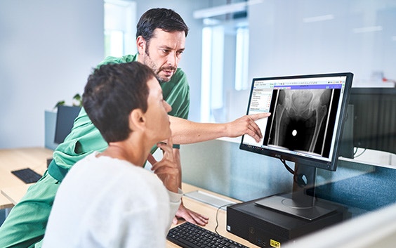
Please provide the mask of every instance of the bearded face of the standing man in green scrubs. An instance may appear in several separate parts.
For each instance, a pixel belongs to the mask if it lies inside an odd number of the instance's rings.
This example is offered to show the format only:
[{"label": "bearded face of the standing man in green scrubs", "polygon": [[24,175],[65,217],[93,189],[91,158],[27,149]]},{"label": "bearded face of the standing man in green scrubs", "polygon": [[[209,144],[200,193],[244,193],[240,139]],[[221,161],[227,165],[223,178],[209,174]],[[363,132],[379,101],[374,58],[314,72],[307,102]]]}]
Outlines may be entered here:
[{"label": "bearded face of the standing man in green scrubs", "polygon": [[144,44],[144,48],[138,44],[139,61],[149,66],[159,81],[171,80],[185,49],[185,32],[156,29],[150,42]]}]

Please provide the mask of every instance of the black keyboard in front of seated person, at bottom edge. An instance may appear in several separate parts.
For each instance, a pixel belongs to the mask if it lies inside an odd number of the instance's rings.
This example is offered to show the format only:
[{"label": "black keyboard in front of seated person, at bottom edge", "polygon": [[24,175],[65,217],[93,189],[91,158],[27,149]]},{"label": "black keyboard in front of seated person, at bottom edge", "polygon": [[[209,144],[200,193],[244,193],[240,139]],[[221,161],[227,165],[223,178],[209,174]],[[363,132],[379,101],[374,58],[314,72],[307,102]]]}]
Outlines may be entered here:
[{"label": "black keyboard in front of seated person, at bottom edge", "polygon": [[248,248],[190,222],[171,228],[167,239],[183,248]]}]

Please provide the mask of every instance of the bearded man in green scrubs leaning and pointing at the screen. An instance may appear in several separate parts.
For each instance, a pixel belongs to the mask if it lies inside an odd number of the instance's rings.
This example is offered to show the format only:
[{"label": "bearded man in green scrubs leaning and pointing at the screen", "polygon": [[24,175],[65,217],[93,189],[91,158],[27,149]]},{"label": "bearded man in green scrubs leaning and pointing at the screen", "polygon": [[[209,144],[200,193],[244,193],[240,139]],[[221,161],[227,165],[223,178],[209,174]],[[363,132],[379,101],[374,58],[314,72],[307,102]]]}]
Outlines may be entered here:
[{"label": "bearded man in green scrubs leaning and pointing at the screen", "polygon": [[[151,9],[142,15],[137,30],[138,54],[106,58],[100,65],[138,61],[153,70],[161,84],[164,100],[172,107],[169,115],[174,143],[196,143],[243,134],[248,134],[257,141],[262,138],[254,121],[267,115],[244,116],[226,124],[201,124],[187,120],[190,89],[185,73],[178,68],[178,62],[185,49],[188,27],[180,15],[164,8]],[[67,171],[79,159],[105,148],[107,143],[82,109],[69,136],[53,152],[53,161],[48,171],[40,181],[29,187],[26,195],[13,207],[0,227],[0,247],[41,247],[56,191]],[[173,148],[181,169],[178,145]],[[155,162],[153,157],[149,156],[148,159]],[[186,209],[183,204],[176,217],[199,225],[206,225],[208,221],[206,216]]]}]

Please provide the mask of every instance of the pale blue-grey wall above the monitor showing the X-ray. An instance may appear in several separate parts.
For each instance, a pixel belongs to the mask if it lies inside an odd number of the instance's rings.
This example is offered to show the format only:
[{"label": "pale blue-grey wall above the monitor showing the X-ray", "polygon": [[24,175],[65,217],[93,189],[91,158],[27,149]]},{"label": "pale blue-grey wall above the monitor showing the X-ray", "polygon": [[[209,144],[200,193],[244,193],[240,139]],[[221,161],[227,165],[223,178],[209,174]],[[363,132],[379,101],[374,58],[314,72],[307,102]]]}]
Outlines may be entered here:
[{"label": "pale blue-grey wall above the monitor showing the X-ray", "polygon": [[354,86],[381,86],[373,72],[396,78],[395,23],[392,0],[262,1],[249,8],[250,77],[350,71]]}]

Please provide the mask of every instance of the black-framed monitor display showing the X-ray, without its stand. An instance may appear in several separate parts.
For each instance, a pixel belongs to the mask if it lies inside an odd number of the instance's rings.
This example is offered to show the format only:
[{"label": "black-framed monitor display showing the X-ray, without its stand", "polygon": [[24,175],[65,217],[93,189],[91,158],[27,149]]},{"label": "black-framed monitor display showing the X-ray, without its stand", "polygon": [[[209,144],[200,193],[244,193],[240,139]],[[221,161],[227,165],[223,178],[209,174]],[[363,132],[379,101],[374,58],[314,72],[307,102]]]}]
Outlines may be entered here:
[{"label": "black-framed monitor display showing the X-ray, without its stand", "polygon": [[253,79],[247,115],[272,115],[256,121],[260,143],[244,135],[239,148],[335,171],[352,77],[345,72]]}]

